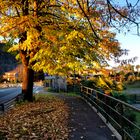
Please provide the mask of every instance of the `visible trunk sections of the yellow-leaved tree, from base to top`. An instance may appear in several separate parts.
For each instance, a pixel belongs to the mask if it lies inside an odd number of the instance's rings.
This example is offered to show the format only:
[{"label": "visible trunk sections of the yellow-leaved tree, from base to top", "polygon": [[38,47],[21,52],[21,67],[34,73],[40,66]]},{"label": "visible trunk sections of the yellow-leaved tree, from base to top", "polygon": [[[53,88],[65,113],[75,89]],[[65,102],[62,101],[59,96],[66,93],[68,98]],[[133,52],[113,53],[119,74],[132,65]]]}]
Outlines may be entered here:
[{"label": "visible trunk sections of the yellow-leaved tree, from base to top", "polygon": [[[22,13],[23,16],[29,15],[29,2],[28,0],[22,0],[23,4]],[[37,0],[34,0],[34,17],[37,17]],[[22,33],[20,43],[23,43],[27,39],[27,31]],[[22,83],[22,93],[24,95],[24,100],[33,101],[33,81],[34,81],[34,71],[31,69],[31,64],[29,64],[32,58],[29,55],[30,50],[27,48],[24,50],[20,48],[20,57],[23,64],[23,83]],[[29,66],[30,65],[30,66]]]}]

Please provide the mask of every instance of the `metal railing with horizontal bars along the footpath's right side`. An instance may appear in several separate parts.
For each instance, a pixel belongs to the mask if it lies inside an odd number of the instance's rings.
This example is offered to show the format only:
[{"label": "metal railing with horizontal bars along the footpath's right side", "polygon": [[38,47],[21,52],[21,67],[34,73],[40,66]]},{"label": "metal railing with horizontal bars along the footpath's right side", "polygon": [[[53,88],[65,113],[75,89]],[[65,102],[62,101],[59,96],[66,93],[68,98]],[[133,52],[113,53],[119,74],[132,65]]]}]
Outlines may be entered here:
[{"label": "metal railing with horizontal bars along the footpath's right side", "polygon": [[80,91],[106,122],[117,130],[122,140],[140,139],[140,109],[92,88],[81,86]]}]

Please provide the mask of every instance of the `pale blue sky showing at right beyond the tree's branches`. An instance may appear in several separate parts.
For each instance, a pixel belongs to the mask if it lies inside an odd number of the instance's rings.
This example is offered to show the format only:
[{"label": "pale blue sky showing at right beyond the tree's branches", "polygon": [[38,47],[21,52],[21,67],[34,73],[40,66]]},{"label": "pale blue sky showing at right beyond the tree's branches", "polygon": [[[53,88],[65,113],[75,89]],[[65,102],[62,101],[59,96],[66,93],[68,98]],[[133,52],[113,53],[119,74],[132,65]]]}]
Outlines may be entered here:
[{"label": "pale blue sky showing at right beyond the tree's branches", "polygon": [[[127,0],[128,3],[135,5],[138,0]],[[125,5],[126,0],[114,0],[116,4]],[[140,2],[138,3],[140,5]],[[131,28],[131,27],[130,27]],[[116,32],[116,39],[120,42],[122,49],[128,49],[128,56],[122,56],[122,59],[129,59],[133,57],[138,57],[138,59],[133,63],[134,65],[140,65],[140,36],[136,35],[136,28],[131,28],[130,32],[126,34]],[[113,62],[110,63],[112,66],[116,66]]]}]

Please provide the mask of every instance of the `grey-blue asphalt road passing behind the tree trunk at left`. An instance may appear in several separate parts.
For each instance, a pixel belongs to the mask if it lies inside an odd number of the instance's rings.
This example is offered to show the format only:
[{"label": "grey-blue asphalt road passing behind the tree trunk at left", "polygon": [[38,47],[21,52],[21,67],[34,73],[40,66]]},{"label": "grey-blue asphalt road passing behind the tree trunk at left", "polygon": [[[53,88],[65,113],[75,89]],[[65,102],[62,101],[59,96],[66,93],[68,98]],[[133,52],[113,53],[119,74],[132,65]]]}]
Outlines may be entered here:
[{"label": "grey-blue asphalt road passing behind the tree trunk at left", "polygon": [[[42,86],[34,86],[33,92],[39,93],[43,89]],[[0,103],[6,102],[21,93],[21,87],[12,87],[0,89]]]}]

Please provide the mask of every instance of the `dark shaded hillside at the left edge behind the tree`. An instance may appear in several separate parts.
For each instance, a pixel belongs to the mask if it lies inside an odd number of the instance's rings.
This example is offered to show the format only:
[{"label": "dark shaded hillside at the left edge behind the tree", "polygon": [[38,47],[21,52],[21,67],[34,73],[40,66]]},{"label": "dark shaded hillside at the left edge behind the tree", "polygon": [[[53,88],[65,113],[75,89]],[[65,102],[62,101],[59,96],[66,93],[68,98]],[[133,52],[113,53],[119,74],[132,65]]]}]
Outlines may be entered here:
[{"label": "dark shaded hillside at the left edge behind the tree", "polygon": [[4,43],[0,43],[0,75],[17,66],[17,60],[12,54],[4,52],[4,46]]}]

